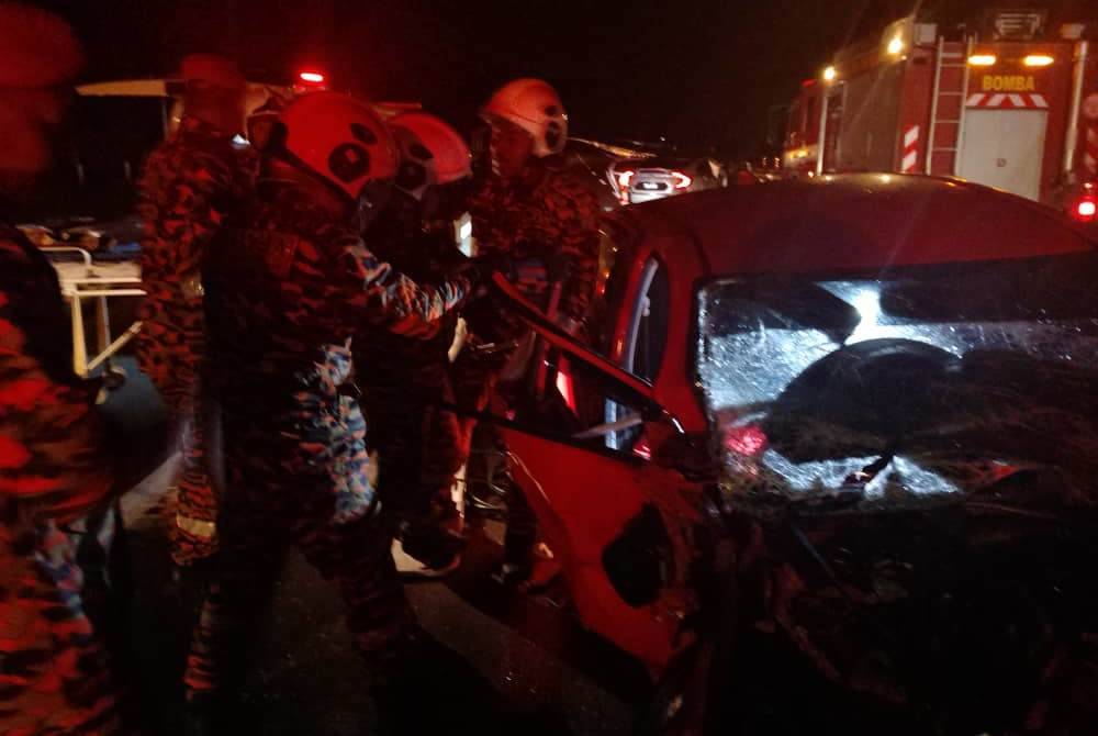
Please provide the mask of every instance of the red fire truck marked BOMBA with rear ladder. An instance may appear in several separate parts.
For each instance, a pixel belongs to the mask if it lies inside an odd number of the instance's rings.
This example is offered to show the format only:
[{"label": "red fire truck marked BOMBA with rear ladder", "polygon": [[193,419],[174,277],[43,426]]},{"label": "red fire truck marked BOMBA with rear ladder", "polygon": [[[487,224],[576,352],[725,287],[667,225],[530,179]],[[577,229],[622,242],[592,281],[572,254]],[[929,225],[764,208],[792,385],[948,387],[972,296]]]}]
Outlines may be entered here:
[{"label": "red fire truck marked BOMBA with rear ladder", "polygon": [[783,167],[960,177],[1064,207],[1098,175],[1098,3],[1075,5],[925,10],[840,49],[791,107]]}]

